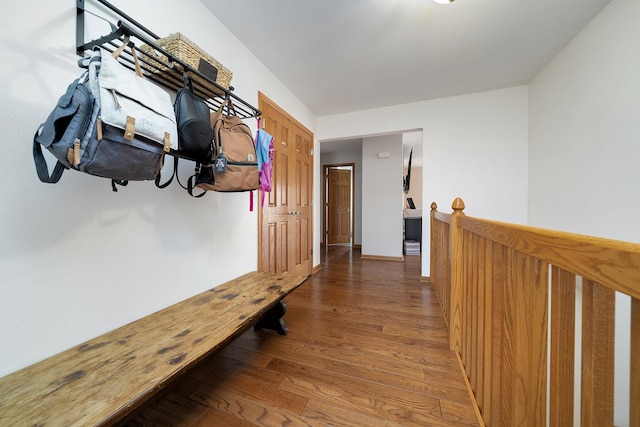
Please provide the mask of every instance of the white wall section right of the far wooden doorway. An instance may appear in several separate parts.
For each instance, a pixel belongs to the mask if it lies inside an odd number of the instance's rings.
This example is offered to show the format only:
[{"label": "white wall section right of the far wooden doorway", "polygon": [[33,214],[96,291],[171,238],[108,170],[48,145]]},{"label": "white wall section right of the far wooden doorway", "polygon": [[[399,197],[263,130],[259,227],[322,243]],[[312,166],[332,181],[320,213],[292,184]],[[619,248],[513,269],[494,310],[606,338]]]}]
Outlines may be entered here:
[{"label": "white wall section right of the far wooden doorway", "polygon": [[402,258],[402,164],[402,135],[362,140],[362,256]]}]

